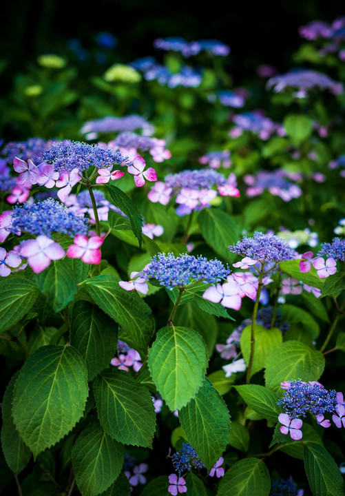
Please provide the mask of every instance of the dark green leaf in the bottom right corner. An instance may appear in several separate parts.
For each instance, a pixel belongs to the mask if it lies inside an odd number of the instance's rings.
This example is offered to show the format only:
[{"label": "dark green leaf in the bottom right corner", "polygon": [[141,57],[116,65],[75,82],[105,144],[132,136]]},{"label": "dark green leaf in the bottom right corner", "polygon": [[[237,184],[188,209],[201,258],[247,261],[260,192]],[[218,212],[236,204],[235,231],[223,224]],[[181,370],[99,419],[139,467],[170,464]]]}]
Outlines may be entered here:
[{"label": "dark green leaf in the bottom right corner", "polygon": [[344,496],[339,467],[323,446],[304,444],[304,468],[313,496]]}]

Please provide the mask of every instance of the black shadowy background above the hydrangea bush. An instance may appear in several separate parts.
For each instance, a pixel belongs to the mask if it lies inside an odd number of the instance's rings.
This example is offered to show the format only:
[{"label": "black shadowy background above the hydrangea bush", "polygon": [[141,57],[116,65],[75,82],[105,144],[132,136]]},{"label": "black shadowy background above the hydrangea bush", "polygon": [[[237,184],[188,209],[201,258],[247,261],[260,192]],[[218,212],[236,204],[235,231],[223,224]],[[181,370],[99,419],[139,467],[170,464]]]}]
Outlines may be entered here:
[{"label": "black shadowy background above the hydrangea bush", "polygon": [[339,0],[6,0],[1,2],[0,56],[19,72],[32,56],[56,52],[70,37],[89,50],[97,32],[109,31],[118,40],[114,62],[156,55],[154,39],[180,36],[229,44],[239,76],[250,75],[260,63],[284,71],[302,41],[300,25],[344,14]]}]

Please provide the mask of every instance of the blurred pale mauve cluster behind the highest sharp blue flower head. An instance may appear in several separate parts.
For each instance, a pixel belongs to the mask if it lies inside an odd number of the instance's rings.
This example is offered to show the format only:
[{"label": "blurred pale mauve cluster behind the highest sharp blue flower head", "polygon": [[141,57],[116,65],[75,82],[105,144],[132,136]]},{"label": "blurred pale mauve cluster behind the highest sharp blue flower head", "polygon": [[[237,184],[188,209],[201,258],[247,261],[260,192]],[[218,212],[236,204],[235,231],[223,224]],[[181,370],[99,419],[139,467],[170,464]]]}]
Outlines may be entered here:
[{"label": "blurred pale mauve cluster behind the highest sharp blue flower head", "polygon": [[151,135],[154,132],[154,126],[138,115],[107,116],[94,121],[87,121],[80,132],[87,134],[88,139],[94,139],[99,133],[132,132],[135,130],[142,130],[143,134]]}]

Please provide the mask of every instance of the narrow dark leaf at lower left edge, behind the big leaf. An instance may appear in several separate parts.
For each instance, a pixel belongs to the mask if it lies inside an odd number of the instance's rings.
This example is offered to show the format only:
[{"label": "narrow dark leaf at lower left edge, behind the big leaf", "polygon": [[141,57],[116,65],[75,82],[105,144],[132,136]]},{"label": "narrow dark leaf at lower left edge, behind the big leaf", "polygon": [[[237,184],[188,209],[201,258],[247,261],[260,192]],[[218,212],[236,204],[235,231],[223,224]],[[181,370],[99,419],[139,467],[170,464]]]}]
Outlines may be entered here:
[{"label": "narrow dark leaf at lower left edge, behind the big leaf", "polygon": [[1,428],[2,451],[8,466],[16,475],[18,475],[23,468],[28,465],[32,454],[28,446],[24,444],[23,440],[19,436],[12,418],[12,397],[14,384],[18,375],[19,371],[12,376],[6,388],[5,394],[3,395],[3,401],[1,404],[3,420],[3,425]]}]

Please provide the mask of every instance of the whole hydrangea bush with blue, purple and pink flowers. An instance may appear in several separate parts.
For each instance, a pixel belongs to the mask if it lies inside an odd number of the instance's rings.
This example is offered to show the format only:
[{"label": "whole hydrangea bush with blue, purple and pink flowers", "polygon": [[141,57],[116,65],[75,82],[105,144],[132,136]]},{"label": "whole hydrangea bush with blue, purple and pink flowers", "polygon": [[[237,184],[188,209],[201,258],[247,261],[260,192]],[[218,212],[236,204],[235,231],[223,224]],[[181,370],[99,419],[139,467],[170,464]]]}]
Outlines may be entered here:
[{"label": "whole hydrangea bush with blue, purple and pink flowers", "polygon": [[106,33],[89,100],[57,55],[14,77],[1,488],[344,495],[344,28],[252,87],[216,39],[123,64]]}]

